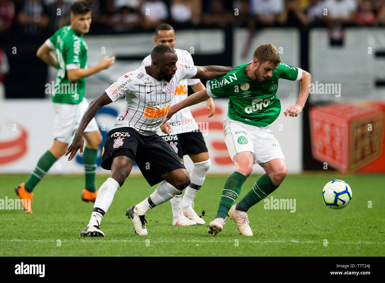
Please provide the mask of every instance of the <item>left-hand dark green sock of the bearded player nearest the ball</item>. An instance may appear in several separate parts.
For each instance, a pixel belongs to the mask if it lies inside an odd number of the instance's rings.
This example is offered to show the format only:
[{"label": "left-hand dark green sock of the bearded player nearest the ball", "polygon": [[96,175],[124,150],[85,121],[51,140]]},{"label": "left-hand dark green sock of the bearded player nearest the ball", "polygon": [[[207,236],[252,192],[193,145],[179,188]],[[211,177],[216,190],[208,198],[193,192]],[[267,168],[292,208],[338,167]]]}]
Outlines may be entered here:
[{"label": "left-hand dark green sock of the bearded player nearest the ball", "polygon": [[215,218],[226,218],[231,206],[233,206],[241,192],[244,181],[246,181],[246,177],[239,172],[234,172],[227,179],[224,184],[221,201],[219,202],[219,208]]}]

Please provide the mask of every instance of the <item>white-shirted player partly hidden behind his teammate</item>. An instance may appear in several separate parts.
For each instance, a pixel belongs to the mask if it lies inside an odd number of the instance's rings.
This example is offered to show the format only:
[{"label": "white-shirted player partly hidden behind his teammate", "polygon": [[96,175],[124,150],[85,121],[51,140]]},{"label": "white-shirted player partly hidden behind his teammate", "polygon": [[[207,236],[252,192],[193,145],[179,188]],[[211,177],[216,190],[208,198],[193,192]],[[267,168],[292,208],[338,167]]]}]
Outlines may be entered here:
[{"label": "white-shirted player partly hidden behind his teammate", "polygon": [[[176,36],[171,25],[162,23],[156,28],[155,35],[154,41],[156,45],[165,44],[175,50],[178,55],[178,63],[194,65],[194,61],[188,51],[174,48]],[[151,65],[151,55],[144,58],[142,65]],[[206,89],[199,79],[181,80],[176,87],[171,105],[187,98],[187,85],[190,85],[194,92]],[[215,105],[211,97],[207,100],[207,108],[211,109],[209,117],[213,116]],[[190,226],[204,224],[204,220],[199,218],[191,204],[203,185],[206,172],[210,167],[210,159],[202,132],[199,130],[194,117],[192,117],[190,109],[186,107],[177,112],[169,122],[161,126],[157,134],[171,145],[182,162],[183,156],[188,155],[194,163],[190,173],[191,183],[186,188],[183,198],[182,192],[180,192],[170,200],[173,217],[172,225]]]}]

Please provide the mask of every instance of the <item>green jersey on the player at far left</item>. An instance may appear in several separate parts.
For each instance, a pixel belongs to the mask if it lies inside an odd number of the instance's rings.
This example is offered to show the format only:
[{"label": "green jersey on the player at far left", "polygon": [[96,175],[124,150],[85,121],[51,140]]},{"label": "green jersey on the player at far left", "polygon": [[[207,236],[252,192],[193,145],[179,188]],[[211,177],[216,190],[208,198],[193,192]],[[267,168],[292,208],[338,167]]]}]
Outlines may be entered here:
[{"label": "green jersey on the player at far left", "polygon": [[84,38],[67,25],[57,30],[52,37],[45,41],[45,44],[50,49],[55,49],[58,65],[52,101],[67,104],[82,102],[85,77],[71,83],[67,77],[67,70],[86,68],[88,47]]}]

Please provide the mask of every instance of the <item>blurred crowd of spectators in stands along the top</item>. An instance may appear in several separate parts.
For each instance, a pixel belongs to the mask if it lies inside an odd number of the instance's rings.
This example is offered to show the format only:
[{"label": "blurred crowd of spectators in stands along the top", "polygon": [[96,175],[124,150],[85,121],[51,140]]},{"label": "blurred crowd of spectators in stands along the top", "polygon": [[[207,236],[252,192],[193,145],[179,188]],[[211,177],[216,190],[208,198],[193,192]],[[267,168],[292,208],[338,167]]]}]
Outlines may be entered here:
[{"label": "blurred crowd of spectators in stands along the top", "polygon": [[[47,37],[70,23],[75,0],[0,0],[0,33]],[[91,34],[228,26],[385,25],[385,0],[87,0]]]}]

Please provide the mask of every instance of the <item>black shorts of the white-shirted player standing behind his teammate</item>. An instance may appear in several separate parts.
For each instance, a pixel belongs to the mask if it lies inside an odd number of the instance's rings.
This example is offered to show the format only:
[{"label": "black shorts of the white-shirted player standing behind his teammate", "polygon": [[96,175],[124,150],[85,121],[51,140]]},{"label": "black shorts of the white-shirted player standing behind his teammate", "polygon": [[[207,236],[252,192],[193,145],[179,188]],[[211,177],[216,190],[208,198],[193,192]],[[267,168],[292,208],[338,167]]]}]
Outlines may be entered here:
[{"label": "black shorts of the white-shirted player standing behind his teammate", "polygon": [[204,142],[201,131],[192,131],[171,136],[161,136],[170,144],[172,149],[178,154],[179,158],[188,154],[208,152],[206,142]]}]

